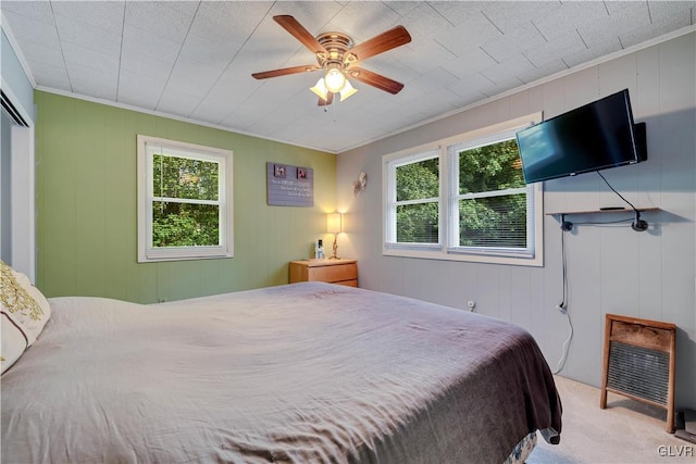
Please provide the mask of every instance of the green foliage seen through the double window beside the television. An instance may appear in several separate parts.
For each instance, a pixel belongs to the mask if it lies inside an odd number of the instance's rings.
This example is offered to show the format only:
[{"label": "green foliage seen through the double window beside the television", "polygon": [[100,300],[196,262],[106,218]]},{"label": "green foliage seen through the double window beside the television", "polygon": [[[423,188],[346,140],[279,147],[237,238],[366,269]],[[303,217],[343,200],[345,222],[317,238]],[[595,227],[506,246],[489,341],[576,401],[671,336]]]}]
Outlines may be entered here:
[{"label": "green foliage seen through the double window beside the television", "polygon": [[[514,139],[459,152],[460,247],[526,247],[526,191]],[[521,191],[505,192],[510,189]],[[399,243],[438,242],[439,159],[396,168]],[[481,195],[483,193],[483,195]],[[434,199],[434,201],[421,201]],[[415,200],[415,201],[414,201]]]}]

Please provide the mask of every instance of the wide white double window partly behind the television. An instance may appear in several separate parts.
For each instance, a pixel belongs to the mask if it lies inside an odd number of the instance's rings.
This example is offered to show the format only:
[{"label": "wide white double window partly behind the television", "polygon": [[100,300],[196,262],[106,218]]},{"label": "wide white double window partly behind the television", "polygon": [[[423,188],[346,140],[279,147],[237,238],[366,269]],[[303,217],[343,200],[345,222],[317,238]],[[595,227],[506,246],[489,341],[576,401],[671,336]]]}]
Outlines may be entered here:
[{"label": "wide white double window partly behind the television", "polygon": [[526,116],[384,158],[384,254],[543,265],[542,188],[525,185]]}]

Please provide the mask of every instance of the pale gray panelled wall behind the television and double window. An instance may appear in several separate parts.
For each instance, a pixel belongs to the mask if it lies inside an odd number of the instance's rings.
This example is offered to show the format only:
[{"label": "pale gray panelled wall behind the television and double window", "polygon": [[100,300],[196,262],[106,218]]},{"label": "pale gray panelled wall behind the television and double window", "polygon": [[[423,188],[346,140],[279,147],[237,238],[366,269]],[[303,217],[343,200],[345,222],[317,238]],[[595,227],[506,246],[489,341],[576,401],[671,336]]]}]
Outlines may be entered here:
[{"label": "pale gray panelled wall behind the television and double window", "polygon": [[[461,309],[474,300],[477,312],[530,330],[554,369],[568,329],[555,309],[562,290],[558,221],[545,216],[543,268],[383,256],[381,160],[535,111],[552,117],[623,88],[636,122],[647,123],[648,161],[604,174],[636,206],[661,211],[644,214],[644,233],[585,225],[567,235],[574,338],[561,374],[599,386],[607,313],[671,322],[679,326],[676,405],[696,409],[696,33],[339,154],[338,208],[347,211],[339,249],[360,260],[360,286]],[[353,196],[361,171],[369,185]],[[546,212],[622,205],[592,173],[547,181],[545,190]]]}]

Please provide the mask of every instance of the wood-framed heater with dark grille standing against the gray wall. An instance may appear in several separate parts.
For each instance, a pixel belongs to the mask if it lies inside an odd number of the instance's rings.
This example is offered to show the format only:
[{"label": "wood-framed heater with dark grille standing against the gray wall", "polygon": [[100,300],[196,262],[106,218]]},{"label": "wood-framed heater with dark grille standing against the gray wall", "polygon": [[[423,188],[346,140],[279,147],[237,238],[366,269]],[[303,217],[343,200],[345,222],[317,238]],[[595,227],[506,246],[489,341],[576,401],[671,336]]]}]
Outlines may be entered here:
[{"label": "wood-framed heater with dark grille standing against the gray wall", "polygon": [[607,314],[599,407],[607,392],[667,410],[667,431],[674,431],[674,349],[676,326]]}]

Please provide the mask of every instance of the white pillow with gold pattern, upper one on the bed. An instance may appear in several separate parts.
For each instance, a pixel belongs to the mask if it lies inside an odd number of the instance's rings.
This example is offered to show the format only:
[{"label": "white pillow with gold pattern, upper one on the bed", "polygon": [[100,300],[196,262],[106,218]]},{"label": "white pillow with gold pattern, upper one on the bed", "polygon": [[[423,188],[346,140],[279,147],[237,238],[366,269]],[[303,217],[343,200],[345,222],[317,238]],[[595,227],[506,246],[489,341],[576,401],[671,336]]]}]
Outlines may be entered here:
[{"label": "white pillow with gold pattern, upper one on the bed", "polygon": [[2,261],[0,261],[0,305],[2,312],[10,313],[21,325],[28,346],[36,341],[51,316],[51,308],[41,291],[32,285],[27,276],[14,271]]}]

